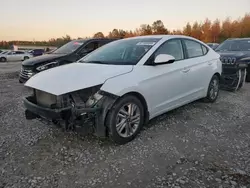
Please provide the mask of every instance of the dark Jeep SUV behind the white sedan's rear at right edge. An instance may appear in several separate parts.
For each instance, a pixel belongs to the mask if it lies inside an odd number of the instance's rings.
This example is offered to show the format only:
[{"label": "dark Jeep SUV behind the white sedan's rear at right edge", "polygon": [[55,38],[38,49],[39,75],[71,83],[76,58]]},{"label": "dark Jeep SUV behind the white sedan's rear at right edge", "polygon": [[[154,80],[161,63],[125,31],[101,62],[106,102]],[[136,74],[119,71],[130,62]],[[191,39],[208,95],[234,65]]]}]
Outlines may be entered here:
[{"label": "dark Jeep SUV behind the white sedan's rear at right edge", "polygon": [[250,38],[230,38],[215,51],[220,54],[222,77],[228,88],[237,90],[250,82]]}]

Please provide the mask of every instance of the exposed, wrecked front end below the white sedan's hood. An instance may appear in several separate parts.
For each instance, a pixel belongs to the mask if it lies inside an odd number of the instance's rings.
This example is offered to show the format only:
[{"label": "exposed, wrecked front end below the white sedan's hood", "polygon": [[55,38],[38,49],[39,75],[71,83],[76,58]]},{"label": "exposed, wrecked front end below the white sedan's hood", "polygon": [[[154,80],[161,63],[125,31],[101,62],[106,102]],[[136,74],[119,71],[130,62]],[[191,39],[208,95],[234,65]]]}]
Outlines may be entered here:
[{"label": "exposed, wrecked front end below the white sedan's hood", "polygon": [[34,89],[33,96],[24,101],[26,118],[50,120],[65,130],[81,129],[88,125],[98,136],[106,136],[104,121],[116,96],[100,88],[101,85],[97,85],[61,96]]}]

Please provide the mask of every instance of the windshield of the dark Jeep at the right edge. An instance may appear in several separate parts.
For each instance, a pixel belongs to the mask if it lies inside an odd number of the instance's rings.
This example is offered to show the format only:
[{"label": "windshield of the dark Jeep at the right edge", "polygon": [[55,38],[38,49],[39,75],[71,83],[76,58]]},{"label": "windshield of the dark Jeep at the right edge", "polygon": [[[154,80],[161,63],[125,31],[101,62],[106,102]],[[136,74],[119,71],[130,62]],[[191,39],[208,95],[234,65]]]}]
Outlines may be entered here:
[{"label": "windshield of the dark Jeep at the right edge", "polygon": [[250,40],[227,40],[216,51],[250,51]]}]

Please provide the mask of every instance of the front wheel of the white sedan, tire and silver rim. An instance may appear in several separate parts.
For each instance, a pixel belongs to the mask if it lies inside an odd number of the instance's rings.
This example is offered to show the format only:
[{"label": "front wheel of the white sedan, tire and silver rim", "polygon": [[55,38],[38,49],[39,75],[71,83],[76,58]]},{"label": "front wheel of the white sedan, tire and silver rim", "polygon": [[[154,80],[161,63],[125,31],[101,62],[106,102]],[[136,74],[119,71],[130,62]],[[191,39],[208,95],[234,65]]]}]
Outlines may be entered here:
[{"label": "front wheel of the white sedan, tire and silver rim", "polygon": [[119,145],[132,141],[143,126],[144,115],[144,107],[137,97],[127,95],[120,98],[106,118],[109,138]]}]

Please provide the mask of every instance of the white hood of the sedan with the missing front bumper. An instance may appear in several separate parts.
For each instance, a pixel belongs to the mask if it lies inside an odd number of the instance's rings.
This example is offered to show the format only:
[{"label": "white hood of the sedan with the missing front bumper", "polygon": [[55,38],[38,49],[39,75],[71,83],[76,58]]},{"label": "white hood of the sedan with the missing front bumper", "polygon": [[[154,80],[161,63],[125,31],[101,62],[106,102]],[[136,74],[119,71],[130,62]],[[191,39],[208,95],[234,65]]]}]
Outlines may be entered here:
[{"label": "white hood of the sedan with the missing front bumper", "polygon": [[72,63],[40,72],[31,77],[25,86],[58,96],[103,84],[107,79],[132,69],[132,65]]}]

